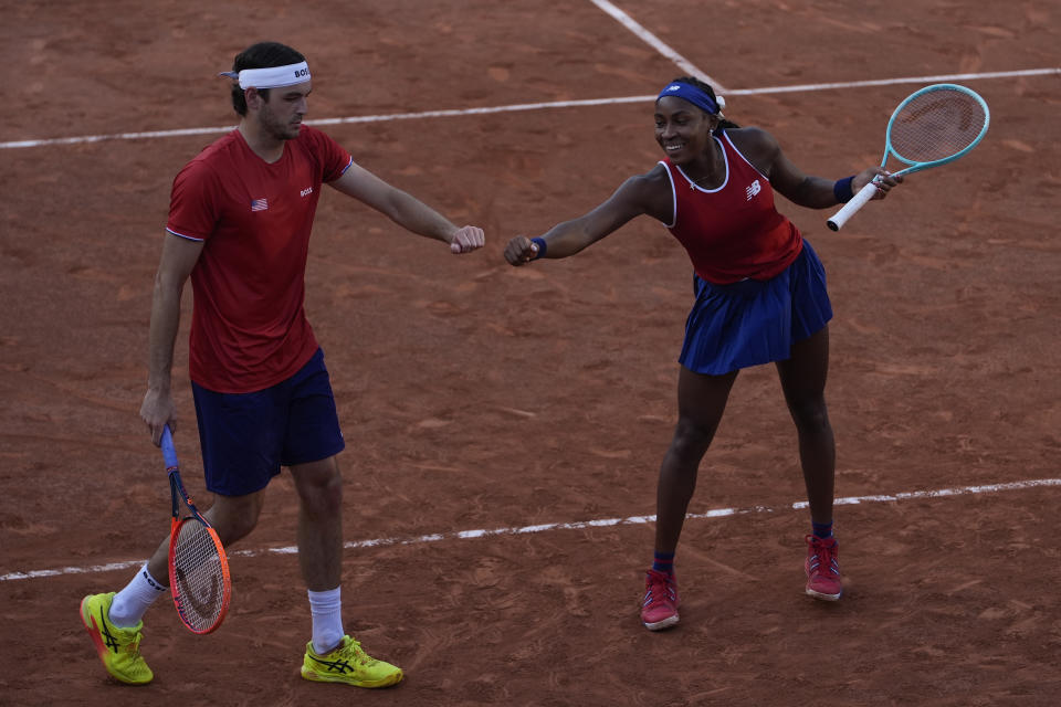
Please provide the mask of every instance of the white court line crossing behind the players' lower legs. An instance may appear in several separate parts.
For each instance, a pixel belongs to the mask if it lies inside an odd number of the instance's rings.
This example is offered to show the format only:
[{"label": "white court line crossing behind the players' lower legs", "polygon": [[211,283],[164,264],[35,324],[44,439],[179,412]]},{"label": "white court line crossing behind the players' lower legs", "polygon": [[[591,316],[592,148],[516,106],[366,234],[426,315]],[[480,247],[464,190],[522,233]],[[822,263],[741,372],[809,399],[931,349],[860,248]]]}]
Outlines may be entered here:
[{"label": "white court line crossing behind the players' lower legs", "polygon": [[[952,496],[968,496],[974,494],[991,494],[1004,490],[1025,490],[1028,488],[1041,488],[1044,486],[1061,486],[1061,478],[1038,478],[1027,482],[1011,482],[1008,484],[987,484],[980,486],[959,486],[957,488],[939,488],[936,490],[913,490],[900,494],[874,494],[870,496],[847,496],[837,498],[833,505],[852,506],[859,504],[879,504],[897,500],[914,500],[918,498],[948,498]],[[691,520],[704,518],[726,518],[729,516],[742,516],[757,513],[775,513],[775,510],[796,510],[807,507],[807,502],[801,500],[780,508],[769,508],[766,506],[753,506],[750,508],[714,508],[706,513],[691,513],[685,517]],[[442,540],[470,540],[475,538],[485,538],[491,536],[508,535],[529,535],[535,532],[546,532],[549,530],[585,530],[587,528],[608,528],[612,526],[624,525],[644,525],[654,523],[655,516],[630,516],[628,518],[601,518],[598,520],[579,520],[575,523],[545,523],[535,526],[523,526],[521,528],[492,528],[482,530],[456,530],[451,532],[432,532],[412,538],[377,538],[375,540],[354,540],[345,542],[344,549],[357,548],[378,548],[391,545],[426,545],[428,542],[440,542]],[[258,557],[262,555],[294,555],[298,551],[296,547],[288,546],[283,548],[266,548],[264,550],[239,550],[231,552],[232,556]],[[20,579],[40,579],[44,577],[59,577],[61,574],[97,574],[99,572],[111,572],[114,570],[127,570],[134,567],[140,567],[144,560],[130,560],[127,562],[111,562],[107,564],[92,564],[88,567],[64,567],[53,570],[31,570],[29,572],[9,572],[0,574],[0,582],[9,582]]]}]

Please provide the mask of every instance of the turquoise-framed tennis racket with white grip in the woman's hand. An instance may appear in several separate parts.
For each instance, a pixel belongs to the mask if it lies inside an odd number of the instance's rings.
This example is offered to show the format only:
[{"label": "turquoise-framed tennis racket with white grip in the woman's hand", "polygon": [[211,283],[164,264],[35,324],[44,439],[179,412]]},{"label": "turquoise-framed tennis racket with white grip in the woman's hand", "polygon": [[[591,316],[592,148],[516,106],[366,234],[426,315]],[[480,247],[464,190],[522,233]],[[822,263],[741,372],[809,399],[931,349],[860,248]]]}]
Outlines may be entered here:
[{"label": "turquoise-framed tennis racket with white grip in the woman's hand", "polygon": [[[953,162],[984,139],[991,115],[987,103],[975,91],[957,84],[925,86],[906,97],[887,122],[884,157],[907,165],[893,175],[912,172]],[[851,201],[829,219],[829,228],[839,231],[854,212],[876,192],[880,177],[859,190]]]}]

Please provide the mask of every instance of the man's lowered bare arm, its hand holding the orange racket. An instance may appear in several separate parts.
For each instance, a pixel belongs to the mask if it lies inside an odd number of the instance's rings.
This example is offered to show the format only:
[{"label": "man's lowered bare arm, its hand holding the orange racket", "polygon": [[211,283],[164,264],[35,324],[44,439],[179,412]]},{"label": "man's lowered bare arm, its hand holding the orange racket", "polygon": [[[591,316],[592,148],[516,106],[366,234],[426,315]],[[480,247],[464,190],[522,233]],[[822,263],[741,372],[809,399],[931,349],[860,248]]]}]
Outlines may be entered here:
[{"label": "man's lowered bare arm, its hand holding the orange racket", "polygon": [[155,291],[151,296],[151,323],[148,331],[147,393],[140,405],[140,418],[151,430],[151,441],[159,444],[162,426],[176,430],[174,398],[170,392],[174,368],[174,344],[180,328],[180,296],[191,270],[202,252],[201,241],[166,234]]}]

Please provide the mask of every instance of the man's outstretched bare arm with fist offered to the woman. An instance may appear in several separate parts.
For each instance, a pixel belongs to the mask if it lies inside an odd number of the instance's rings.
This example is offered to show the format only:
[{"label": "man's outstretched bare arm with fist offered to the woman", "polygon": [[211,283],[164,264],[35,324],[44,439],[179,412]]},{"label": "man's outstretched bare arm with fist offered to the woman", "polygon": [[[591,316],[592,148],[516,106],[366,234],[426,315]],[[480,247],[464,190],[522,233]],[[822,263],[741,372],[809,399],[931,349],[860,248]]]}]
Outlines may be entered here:
[{"label": "man's outstretched bare arm with fist offered to the woman", "polygon": [[458,228],[416,197],[391,187],[356,163],[329,186],[379,211],[407,231],[449,243],[453,253],[469,253],[483,246],[482,229]]}]

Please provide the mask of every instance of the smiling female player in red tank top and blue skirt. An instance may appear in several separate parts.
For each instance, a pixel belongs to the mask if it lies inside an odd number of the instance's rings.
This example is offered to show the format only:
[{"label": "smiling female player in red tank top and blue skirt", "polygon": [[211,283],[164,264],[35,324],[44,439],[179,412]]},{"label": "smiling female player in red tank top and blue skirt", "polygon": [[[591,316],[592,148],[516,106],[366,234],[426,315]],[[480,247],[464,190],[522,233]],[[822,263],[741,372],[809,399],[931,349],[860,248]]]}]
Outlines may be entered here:
[{"label": "smiling female player in red tank top and blue skirt", "polygon": [[832,534],[836,447],[826,408],[832,308],[821,262],[774,205],[777,191],[812,209],[834,207],[880,175],[875,198],[902,178],[881,167],[839,181],[801,172],[768,133],[724,119],[724,102],[695,78],[671,82],[655,102],[655,139],[665,158],[627,179],[599,207],[539,238],[505,247],[512,265],[567,257],[642,214],[660,221],[693,264],[696,297],[679,357],[677,425],[660,468],[655,555],[641,621],[651,631],[677,623],[674,553],[700,462],[711,445],[742,368],[775,362],[799,436],[810,502],[806,591],[840,599]]}]

